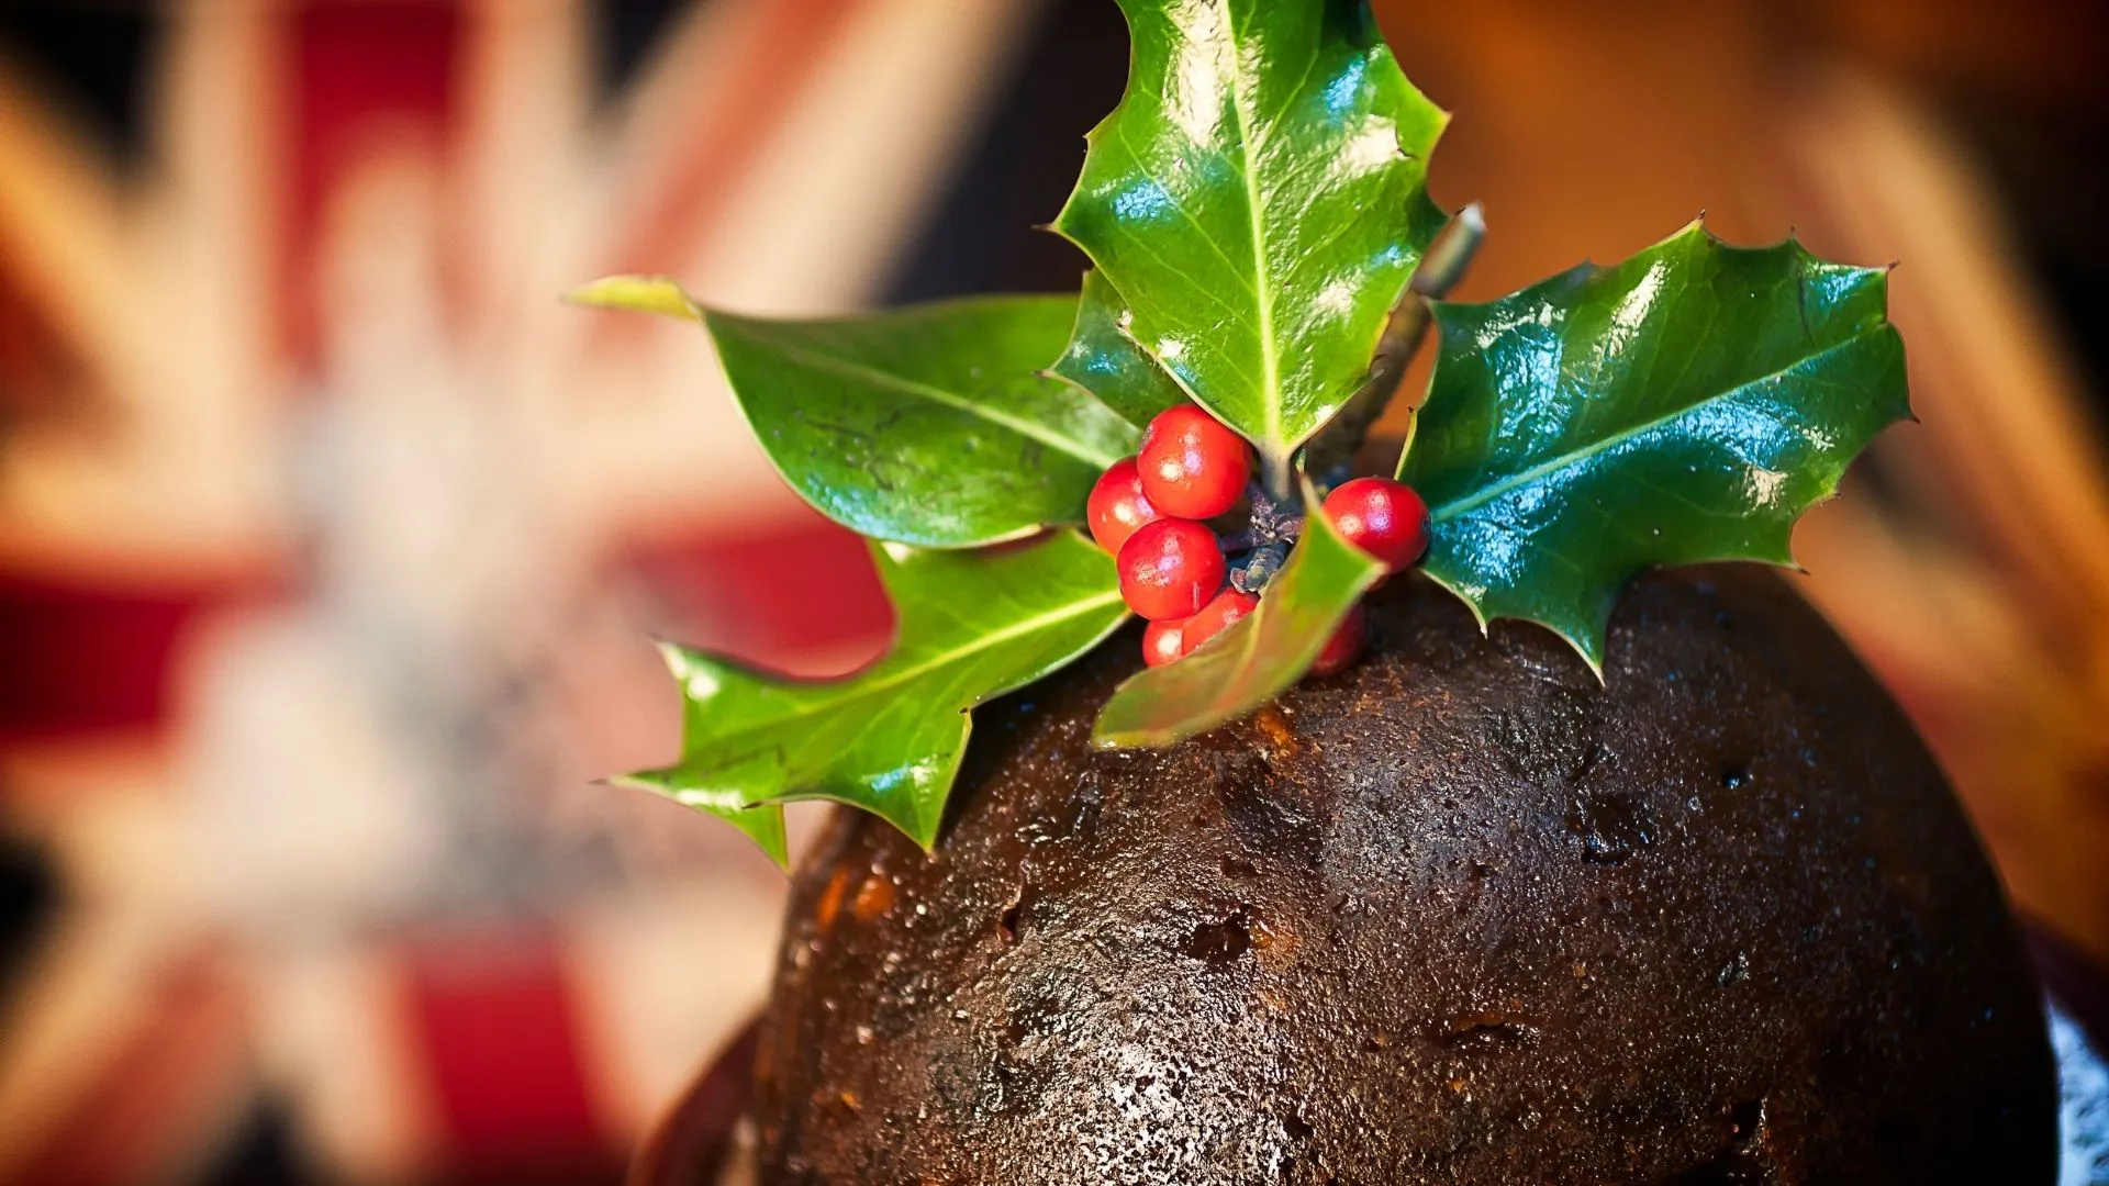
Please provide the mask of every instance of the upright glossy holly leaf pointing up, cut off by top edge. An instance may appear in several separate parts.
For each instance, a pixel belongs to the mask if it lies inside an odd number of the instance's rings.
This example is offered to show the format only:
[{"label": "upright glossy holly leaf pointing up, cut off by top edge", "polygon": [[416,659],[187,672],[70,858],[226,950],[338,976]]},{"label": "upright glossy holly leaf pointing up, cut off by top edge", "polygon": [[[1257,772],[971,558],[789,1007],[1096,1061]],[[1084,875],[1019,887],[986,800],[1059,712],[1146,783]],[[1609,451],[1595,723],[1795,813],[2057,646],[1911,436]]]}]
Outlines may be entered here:
[{"label": "upright glossy holly leaf pointing up, cut off by top edge", "polygon": [[1356,393],[1443,224],[1447,116],[1362,0],[1122,0],[1128,89],[1054,219],[1272,473]]}]

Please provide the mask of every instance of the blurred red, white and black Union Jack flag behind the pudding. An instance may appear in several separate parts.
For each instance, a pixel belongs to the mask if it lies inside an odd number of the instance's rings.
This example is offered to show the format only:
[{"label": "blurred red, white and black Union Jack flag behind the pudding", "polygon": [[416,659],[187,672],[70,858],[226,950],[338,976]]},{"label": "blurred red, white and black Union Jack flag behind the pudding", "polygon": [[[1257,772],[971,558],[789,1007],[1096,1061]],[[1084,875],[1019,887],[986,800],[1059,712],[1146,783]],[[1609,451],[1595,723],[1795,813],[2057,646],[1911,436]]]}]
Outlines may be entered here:
[{"label": "blurred red, white and black Union Jack flag behind the pudding", "polygon": [[780,901],[744,842],[588,785],[675,737],[647,637],[839,671],[888,610],[700,333],[557,293],[976,285],[917,243],[1046,215],[953,184],[1006,160],[1040,21],[11,6],[0,831],[11,935],[42,926],[0,952],[0,1182],[618,1171],[757,1005]]}]

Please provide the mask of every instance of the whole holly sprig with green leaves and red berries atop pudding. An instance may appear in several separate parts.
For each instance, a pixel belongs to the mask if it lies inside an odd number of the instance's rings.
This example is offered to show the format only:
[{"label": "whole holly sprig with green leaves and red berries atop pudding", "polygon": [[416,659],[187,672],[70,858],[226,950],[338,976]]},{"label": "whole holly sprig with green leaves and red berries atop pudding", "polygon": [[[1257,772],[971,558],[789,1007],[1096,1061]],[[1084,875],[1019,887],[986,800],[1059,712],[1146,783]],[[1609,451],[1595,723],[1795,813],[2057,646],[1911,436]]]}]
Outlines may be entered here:
[{"label": "whole holly sprig with green leaves and red berries atop pudding", "polygon": [[[1080,295],[780,321],[658,276],[569,293],[700,323],[785,481],[875,540],[901,620],[833,682],[666,646],[681,755],[618,781],[778,861],[782,804],[808,798],[930,848],[974,705],[1130,608],[1154,618],[1147,669],[1095,739],[1173,745],[1350,663],[1360,597],[1415,561],[1483,625],[1540,623],[1601,675],[1634,574],[1791,563],[1795,519],[1909,416],[1885,272],[1694,224],[1497,302],[1438,300],[1483,224],[1445,230],[1426,177],[1449,116],[1365,2],[1120,6],[1128,89],[1052,222],[1092,262]],[[1415,428],[1390,475],[1358,477],[1430,325]]]}]

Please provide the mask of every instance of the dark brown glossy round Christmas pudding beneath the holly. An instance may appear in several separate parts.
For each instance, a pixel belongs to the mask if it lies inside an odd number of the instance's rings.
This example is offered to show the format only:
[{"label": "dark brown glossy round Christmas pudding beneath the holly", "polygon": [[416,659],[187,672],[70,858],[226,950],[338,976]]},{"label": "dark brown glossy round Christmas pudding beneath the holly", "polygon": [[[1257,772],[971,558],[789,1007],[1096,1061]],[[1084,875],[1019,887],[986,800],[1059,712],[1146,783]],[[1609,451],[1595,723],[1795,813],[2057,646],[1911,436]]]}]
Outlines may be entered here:
[{"label": "dark brown glossy round Christmas pudding beneath the holly", "polygon": [[1371,654],[1092,753],[1135,639],[979,715],[936,857],[839,812],[757,1057],[763,1182],[2046,1184],[1999,886],[1755,566],[1641,580],[1607,684],[1424,578]]}]

